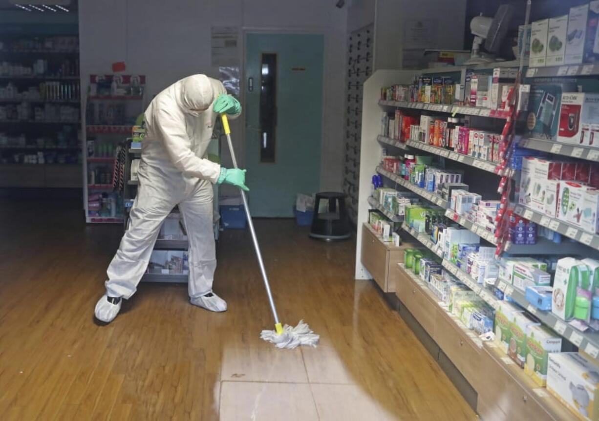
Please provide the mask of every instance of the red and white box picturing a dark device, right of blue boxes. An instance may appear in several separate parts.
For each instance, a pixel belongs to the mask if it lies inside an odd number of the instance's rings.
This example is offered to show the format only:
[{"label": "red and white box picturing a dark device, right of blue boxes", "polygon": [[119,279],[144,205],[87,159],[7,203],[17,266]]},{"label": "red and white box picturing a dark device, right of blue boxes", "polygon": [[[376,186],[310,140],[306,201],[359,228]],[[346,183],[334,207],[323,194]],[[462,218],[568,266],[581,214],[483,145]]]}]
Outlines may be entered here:
[{"label": "red and white box picturing a dark device, right of blue boxes", "polygon": [[[597,124],[599,124],[599,93],[562,93],[559,142],[591,146],[590,128]],[[586,139],[583,134],[587,134]]]}]

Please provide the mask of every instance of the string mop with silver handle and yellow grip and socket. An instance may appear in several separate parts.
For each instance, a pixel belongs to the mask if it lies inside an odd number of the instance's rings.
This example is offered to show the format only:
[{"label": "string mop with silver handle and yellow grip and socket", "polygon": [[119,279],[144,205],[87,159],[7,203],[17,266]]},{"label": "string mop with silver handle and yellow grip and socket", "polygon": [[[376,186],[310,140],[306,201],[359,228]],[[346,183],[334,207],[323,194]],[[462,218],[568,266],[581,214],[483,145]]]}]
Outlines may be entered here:
[{"label": "string mop with silver handle and yellow grip and socket", "polygon": [[[229,152],[231,153],[231,160],[233,161],[234,168],[237,168],[237,159],[235,159],[235,152],[233,151],[233,143],[231,141],[231,129],[229,129],[229,120],[226,114],[220,114],[220,119],[223,123],[223,129],[225,130],[226,140],[229,144]],[[250,227],[250,234],[252,234],[252,241],[254,249],[256,250],[256,258],[258,258],[258,265],[262,272],[262,280],[264,280],[264,286],[266,287],[266,293],[268,295],[268,301],[270,302],[270,309],[273,312],[274,317],[274,331],[262,331],[260,337],[265,341],[271,342],[277,346],[277,348],[294,349],[299,345],[310,345],[316,347],[319,335],[315,334],[304,320],[299,320],[297,326],[282,326],[279,322],[279,314],[277,314],[277,308],[274,305],[273,294],[270,291],[270,284],[268,283],[268,276],[266,269],[264,268],[264,262],[262,261],[262,253],[260,252],[260,246],[258,245],[258,238],[256,237],[256,231],[254,231],[254,224],[252,222],[252,216],[250,215],[250,208],[247,206],[246,192],[243,189],[239,189],[241,192],[241,199],[243,200],[243,208],[246,210],[247,225]]]}]

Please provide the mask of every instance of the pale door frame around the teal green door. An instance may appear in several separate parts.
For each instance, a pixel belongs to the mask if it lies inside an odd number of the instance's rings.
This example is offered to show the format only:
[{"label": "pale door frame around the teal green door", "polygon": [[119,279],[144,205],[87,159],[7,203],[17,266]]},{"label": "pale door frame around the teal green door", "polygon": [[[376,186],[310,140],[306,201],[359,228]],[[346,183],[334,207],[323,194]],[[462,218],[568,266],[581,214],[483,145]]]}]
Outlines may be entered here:
[{"label": "pale door frame around the teal green door", "polygon": [[[246,37],[248,34],[298,34],[298,35],[323,35],[323,57],[322,57],[322,119],[321,127],[320,127],[320,180],[318,180],[319,189],[322,186],[322,171],[324,170],[324,157],[325,157],[325,75],[328,69],[328,63],[326,62],[326,46],[330,42],[332,30],[328,28],[311,28],[311,27],[298,27],[298,28],[278,28],[276,26],[269,28],[253,28],[251,26],[244,26],[241,28],[241,65],[240,65],[240,81],[239,81],[239,92],[240,92],[240,101],[241,107],[246,106],[246,58],[247,58],[247,49],[246,49]],[[243,123],[241,126],[241,163],[245,166],[246,162],[246,120],[243,114],[241,115],[243,118]],[[240,158],[237,158],[240,160]]]}]

